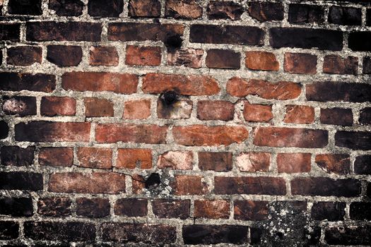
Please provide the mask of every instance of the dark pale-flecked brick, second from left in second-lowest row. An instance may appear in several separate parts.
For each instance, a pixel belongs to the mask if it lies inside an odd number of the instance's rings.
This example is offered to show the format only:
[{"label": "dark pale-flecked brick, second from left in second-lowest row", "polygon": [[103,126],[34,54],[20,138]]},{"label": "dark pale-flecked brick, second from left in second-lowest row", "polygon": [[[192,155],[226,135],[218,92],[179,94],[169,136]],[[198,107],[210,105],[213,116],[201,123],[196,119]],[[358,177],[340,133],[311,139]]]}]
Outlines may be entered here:
[{"label": "dark pale-flecked brick, second from left in second-lowest row", "polygon": [[37,201],[37,214],[54,217],[71,215],[71,200],[69,198],[40,198]]}]

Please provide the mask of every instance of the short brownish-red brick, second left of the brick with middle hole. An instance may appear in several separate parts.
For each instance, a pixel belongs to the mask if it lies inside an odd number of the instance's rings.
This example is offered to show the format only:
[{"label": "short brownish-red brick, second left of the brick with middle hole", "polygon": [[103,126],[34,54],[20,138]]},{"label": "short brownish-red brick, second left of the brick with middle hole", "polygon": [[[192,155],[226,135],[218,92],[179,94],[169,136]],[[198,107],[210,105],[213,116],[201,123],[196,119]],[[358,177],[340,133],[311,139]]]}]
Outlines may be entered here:
[{"label": "short brownish-red brick, second left of the brick with middle hole", "polygon": [[113,102],[106,99],[84,98],[85,116],[113,116]]}]

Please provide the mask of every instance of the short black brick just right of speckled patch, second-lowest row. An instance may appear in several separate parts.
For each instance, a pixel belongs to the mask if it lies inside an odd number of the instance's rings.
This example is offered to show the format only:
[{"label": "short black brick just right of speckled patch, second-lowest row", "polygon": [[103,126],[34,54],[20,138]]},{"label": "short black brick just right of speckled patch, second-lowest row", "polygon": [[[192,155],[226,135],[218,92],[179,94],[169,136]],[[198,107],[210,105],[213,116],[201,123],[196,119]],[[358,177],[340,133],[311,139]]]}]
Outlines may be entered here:
[{"label": "short black brick just right of speckled patch, second-lowest row", "polygon": [[316,220],[327,219],[330,222],[337,222],[344,219],[345,208],[346,203],[318,202],[313,204],[311,216]]}]

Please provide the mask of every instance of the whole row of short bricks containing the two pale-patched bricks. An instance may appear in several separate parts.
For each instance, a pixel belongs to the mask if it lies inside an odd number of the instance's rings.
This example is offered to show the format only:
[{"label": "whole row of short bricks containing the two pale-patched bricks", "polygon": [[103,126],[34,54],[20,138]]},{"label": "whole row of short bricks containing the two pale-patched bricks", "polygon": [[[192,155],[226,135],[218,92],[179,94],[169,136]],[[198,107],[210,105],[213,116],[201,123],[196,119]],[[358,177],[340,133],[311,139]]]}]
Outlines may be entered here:
[{"label": "whole row of short bricks containing the two pale-patched bricks", "polygon": [[[1,147],[1,164],[4,166],[23,167],[34,164],[35,147]],[[112,162],[113,150],[100,147],[78,147],[76,160],[78,167],[94,169],[151,169],[153,154],[149,149],[119,148],[117,158]],[[159,169],[194,170],[201,171],[231,171],[233,168],[232,152],[198,152],[198,162],[194,162],[196,155],[191,151],[167,151],[160,154],[156,166]],[[371,155],[355,157],[353,164],[354,174],[371,174],[371,167],[367,159]],[[241,152],[235,155],[235,167],[239,171],[257,172],[269,171],[271,168],[271,153],[269,152]],[[311,171],[310,153],[278,153],[276,164],[278,173],[303,173]],[[351,159],[346,154],[315,155],[314,162],[324,172],[329,174],[350,174]],[[38,164],[47,167],[72,167],[73,147],[41,147],[38,155]]]}]

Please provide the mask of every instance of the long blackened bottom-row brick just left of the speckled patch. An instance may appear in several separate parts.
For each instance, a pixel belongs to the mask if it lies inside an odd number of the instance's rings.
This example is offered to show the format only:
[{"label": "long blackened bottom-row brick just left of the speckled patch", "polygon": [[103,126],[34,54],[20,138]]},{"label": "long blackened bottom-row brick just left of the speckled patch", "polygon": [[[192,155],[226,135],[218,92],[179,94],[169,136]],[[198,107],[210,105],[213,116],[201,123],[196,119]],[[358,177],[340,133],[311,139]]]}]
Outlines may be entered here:
[{"label": "long blackened bottom-row brick just left of the speckled patch", "polygon": [[194,224],[182,228],[185,244],[247,243],[246,226]]}]

